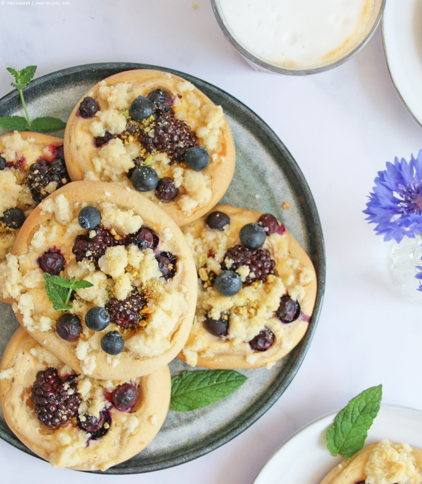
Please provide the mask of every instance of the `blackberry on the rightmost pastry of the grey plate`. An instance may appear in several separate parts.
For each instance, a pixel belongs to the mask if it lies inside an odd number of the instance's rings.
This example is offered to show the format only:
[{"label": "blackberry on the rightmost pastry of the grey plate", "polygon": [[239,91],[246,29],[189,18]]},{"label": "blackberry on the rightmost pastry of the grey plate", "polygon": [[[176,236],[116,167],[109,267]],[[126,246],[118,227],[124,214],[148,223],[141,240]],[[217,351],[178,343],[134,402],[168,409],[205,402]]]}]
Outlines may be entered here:
[{"label": "blackberry on the rightmost pastry of the grey plate", "polygon": [[275,261],[271,259],[267,249],[249,250],[237,244],[225,253],[223,263],[221,264],[221,268],[224,270],[228,268],[224,262],[226,258],[233,260],[233,264],[230,266],[231,271],[236,271],[241,265],[249,267],[251,273],[245,280],[247,284],[253,281],[265,282],[269,274],[275,274]]}]

